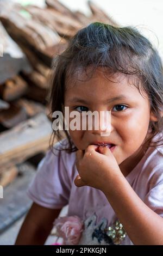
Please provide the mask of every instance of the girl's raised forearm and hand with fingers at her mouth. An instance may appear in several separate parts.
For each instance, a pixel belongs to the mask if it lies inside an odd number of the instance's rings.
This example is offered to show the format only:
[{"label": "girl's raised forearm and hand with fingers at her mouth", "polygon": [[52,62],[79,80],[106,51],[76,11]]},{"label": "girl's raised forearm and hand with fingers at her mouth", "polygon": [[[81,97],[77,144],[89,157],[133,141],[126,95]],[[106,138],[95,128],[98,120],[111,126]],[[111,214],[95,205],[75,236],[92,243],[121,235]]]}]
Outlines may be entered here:
[{"label": "girl's raised forearm and hand with fingers at her mouth", "polygon": [[103,191],[118,219],[135,245],[163,245],[163,218],[137,196],[122,174],[115,157],[106,147],[89,145],[78,150],[74,180],[78,187],[91,186]]}]

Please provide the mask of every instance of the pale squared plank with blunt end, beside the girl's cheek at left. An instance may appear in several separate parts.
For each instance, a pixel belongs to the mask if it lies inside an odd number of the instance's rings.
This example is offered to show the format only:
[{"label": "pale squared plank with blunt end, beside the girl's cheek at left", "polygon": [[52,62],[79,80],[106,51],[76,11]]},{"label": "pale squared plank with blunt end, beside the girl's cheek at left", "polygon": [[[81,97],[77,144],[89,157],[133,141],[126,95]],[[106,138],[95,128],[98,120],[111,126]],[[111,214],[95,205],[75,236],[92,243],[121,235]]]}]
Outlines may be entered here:
[{"label": "pale squared plank with blunt end, beside the girl's cheek at left", "polygon": [[0,134],[0,173],[5,166],[9,168],[21,163],[37,153],[48,149],[52,134],[52,124],[45,114],[37,114]]}]

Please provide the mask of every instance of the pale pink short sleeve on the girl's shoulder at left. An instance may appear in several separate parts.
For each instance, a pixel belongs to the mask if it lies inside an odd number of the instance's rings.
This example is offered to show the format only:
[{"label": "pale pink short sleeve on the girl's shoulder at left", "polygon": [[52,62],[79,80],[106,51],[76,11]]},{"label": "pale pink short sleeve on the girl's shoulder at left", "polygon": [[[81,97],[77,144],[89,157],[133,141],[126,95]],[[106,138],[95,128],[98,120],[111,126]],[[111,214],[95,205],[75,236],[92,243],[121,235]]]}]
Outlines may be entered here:
[{"label": "pale pink short sleeve on the girl's shoulder at left", "polygon": [[33,202],[50,209],[61,209],[68,204],[72,185],[62,156],[66,153],[56,148],[59,143],[55,144],[55,155],[49,150],[41,160],[27,191]]}]

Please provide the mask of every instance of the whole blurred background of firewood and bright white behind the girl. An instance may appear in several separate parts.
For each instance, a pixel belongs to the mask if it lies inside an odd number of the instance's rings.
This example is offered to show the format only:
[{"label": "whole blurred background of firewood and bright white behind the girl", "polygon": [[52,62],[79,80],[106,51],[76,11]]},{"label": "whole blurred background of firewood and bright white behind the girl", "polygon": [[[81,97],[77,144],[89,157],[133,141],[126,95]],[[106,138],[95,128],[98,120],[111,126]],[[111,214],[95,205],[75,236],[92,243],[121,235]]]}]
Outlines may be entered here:
[{"label": "whole blurred background of firewood and bright white behind the girl", "polygon": [[49,148],[55,54],[78,29],[101,21],[136,27],[163,57],[162,14],[161,0],[0,0],[0,245],[14,244],[32,204],[27,187]]}]

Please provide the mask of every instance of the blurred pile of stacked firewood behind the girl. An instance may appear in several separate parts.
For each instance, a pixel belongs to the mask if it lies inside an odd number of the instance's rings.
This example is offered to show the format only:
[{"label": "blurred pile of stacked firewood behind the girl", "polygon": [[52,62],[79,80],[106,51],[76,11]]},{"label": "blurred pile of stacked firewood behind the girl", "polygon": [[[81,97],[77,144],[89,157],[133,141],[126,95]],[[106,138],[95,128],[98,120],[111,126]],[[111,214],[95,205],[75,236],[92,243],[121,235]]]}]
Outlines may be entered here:
[{"label": "blurred pile of stacked firewood behind the girl", "polygon": [[46,0],[45,8],[0,2],[0,185],[16,178],[18,164],[49,147],[47,93],[53,56],[93,21],[116,26],[93,2],[88,4],[90,16],[57,0]]}]

